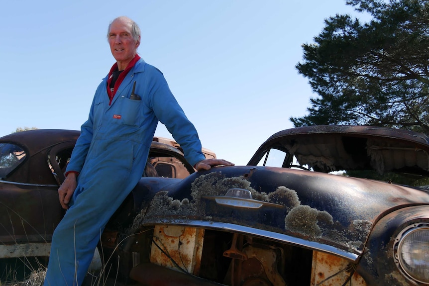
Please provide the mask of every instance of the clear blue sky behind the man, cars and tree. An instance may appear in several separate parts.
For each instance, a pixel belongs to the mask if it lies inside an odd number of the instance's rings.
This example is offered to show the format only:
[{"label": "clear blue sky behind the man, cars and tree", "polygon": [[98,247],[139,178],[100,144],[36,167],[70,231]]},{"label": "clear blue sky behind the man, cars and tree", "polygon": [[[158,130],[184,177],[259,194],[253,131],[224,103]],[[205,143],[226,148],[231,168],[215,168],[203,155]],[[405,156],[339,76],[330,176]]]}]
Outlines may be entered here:
[{"label": "clear blue sky behind the man, cars and tree", "polygon": [[[114,63],[108,23],[142,30],[140,56],[159,68],[218,158],[245,165],[293,127],[312,94],[295,65],[345,0],[20,0],[0,12],[0,136],[18,127],[75,129]],[[171,138],[158,126],[157,136]]]}]

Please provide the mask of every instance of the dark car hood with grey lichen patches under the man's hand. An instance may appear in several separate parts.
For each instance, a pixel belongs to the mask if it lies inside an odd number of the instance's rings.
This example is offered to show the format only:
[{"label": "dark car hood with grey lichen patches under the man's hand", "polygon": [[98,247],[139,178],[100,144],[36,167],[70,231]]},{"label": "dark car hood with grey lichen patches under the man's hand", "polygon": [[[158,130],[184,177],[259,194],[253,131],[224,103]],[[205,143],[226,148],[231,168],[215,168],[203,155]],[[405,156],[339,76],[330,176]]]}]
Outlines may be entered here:
[{"label": "dark car hood with grey lichen patches under the man's hand", "polygon": [[[157,180],[162,179],[140,181],[137,188],[146,194],[142,200],[147,204],[134,225],[239,231],[350,260],[362,254],[372,226],[383,215],[429,203],[429,194],[420,189],[285,168],[217,167],[160,189],[154,188]],[[240,196],[239,190],[251,197]]]}]

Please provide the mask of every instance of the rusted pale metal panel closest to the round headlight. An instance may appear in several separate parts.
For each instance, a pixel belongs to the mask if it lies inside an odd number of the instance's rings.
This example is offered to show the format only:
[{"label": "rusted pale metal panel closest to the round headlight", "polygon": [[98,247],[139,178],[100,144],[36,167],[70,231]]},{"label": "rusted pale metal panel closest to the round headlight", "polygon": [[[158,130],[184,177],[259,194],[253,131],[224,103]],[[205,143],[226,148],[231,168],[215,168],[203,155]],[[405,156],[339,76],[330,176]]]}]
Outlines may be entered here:
[{"label": "rusted pale metal panel closest to the round headlight", "polygon": [[[340,257],[323,252],[313,252],[311,286],[343,285],[352,275],[353,286],[366,286],[363,278],[354,271],[354,265]],[[349,284],[347,284],[349,285]]]}]

